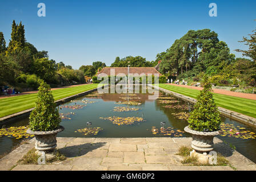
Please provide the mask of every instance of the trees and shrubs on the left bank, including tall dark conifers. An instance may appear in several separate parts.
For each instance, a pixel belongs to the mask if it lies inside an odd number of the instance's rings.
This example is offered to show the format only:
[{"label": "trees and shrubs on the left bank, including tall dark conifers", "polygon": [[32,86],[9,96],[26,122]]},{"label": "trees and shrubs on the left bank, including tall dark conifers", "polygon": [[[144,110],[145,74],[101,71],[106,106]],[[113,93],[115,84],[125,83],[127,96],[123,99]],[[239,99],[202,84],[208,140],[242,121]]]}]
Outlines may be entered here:
[{"label": "trees and shrubs on the left bank, including tall dark conifers", "polygon": [[11,26],[11,40],[6,46],[3,32],[0,32],[0,86],[13,86],[16,90],[38,88],[42,80],[52,87],[85,83],[97,69],[105,67],[101,61],[93,65],[73,69],[62,61],[49,59],[47,51],[38,51],[26,41],[22,22]]}]

